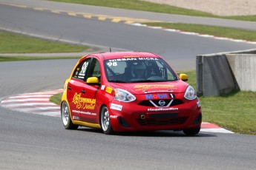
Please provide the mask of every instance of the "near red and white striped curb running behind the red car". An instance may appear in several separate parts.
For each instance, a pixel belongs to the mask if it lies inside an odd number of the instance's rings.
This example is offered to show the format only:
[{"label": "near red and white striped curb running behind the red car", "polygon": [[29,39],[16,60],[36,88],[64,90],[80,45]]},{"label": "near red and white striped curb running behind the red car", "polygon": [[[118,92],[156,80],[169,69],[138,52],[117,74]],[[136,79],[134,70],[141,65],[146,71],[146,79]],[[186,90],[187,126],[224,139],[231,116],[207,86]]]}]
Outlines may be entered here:
[{"label": "near red and white striped curb running behind the red car", "polygon": [[[5,98],[0,102],[0,105],[19,112],[60,117],[60,106],[49,101],[50,96],[60,92],[63,92],[63,89],[16,95],[9,98]],[[202,123],[200,131],[215,133],[233,133],[215,124],[205,122]]]}]

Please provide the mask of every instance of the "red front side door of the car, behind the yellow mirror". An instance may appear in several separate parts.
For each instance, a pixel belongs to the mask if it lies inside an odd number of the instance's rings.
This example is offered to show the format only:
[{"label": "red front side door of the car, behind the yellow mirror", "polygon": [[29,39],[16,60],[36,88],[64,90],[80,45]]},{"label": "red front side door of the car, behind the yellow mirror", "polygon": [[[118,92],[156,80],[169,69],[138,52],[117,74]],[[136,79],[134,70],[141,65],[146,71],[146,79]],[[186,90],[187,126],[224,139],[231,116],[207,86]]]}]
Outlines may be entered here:
[{"label": "red front side door of the car, behind the yellow mirror", "polygon": [[[92,58],[90,69],[88,71],[87,78],[90,77],[97,77],[99,78],[99,83],[101,81],[101,70],[99,67],[99,61],[97,58]],[[98,114],[99,108],[97,107],[96,94],[99,89],[99,84],[85,84],[84,93],[82,93],[82,98],[84,99],[85,103],[80,108],[81,113],[81,120],[89,123],[99,123]],[[98,106],[99,107],[99,106]]]}]

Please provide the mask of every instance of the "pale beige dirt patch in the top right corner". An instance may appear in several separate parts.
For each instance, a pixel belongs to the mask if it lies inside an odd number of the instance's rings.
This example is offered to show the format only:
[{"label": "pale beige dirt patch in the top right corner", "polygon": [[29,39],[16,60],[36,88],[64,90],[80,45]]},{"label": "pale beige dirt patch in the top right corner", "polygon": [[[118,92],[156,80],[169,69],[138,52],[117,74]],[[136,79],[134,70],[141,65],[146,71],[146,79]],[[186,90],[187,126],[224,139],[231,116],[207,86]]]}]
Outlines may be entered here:
[{"label": "pale beige dirt patch in the top right corner", "polygon": [[190,10],[200,10],[217,16],[256,15],[256,0],[144,0],[169,4]]}]

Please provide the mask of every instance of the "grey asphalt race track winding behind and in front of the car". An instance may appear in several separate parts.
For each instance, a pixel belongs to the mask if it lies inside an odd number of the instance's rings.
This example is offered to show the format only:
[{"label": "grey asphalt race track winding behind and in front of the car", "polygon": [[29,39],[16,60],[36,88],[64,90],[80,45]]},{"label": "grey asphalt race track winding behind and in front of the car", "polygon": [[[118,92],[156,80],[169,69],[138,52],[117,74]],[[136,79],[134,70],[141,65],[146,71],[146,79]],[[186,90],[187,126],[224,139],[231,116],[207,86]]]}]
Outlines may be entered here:
[{"label": "grey asphalt race track winding behind and in front of the car", "polygon": [[[23,2],[27,1],[20,1]],[[36,2],[40,4],[44,1]],[[49,7],[56,8],[54,5]],[[64,4],[61,6],[67,7]],[[71,7],[73,6],[68,6],[70,10]],[[128,15],[126,10],[123,13]],[[139,16],[133,13],[134,16]],[[2,4],[0,27],[19,30],[20,33],[94,44],[97,47],[149,50],[163,55],[170,63],[181,63],[181,70],[193,69],[195,56],[198,54],[255,48],[253,44],[165,33],[163,30],[130,24]],[[0,98],[59,89],[75,63],[76,60],[1,62]],[[256,167],[255,136],[251,135],[202,132],[196,137],[186,137],[181,132],[169,131],[104,135],[99,130],[88,128],[65,130],[59,118],[16,112],[2,107],[0,133],[0,169]]]}]

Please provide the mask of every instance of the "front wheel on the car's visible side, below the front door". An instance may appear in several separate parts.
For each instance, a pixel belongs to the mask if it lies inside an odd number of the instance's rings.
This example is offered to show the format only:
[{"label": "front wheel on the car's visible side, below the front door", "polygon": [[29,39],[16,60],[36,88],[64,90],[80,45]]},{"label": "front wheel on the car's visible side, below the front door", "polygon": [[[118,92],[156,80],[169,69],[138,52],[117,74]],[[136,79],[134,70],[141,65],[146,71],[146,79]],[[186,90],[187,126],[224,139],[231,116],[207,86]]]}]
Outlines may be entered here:
[{"label": "front wheel on the car's visible side, below the front door", "polygon": [[102,131],[105,135],[111,135],[114,133],[111,127],[111,121],[109,118],[109,112],[107,106],[102,106],[100,111],[100,126],[102,127]]}]

